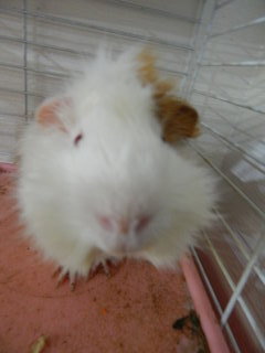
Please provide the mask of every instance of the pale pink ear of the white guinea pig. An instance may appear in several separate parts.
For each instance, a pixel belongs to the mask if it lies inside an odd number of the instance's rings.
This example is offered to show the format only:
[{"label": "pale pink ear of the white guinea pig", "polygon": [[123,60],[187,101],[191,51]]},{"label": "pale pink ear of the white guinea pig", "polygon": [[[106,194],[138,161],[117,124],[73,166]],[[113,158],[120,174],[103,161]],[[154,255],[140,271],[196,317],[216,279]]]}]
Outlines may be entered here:
[{"label": "pale pink ear of the white guinea pig", "polygon": [[72,103],[68,97],[56,97],[46,99],[36,109],[35,119],[43,127],[57,127],[60,130],[66,132],[60,116],[71,107]]}]

